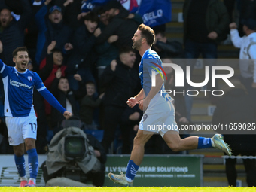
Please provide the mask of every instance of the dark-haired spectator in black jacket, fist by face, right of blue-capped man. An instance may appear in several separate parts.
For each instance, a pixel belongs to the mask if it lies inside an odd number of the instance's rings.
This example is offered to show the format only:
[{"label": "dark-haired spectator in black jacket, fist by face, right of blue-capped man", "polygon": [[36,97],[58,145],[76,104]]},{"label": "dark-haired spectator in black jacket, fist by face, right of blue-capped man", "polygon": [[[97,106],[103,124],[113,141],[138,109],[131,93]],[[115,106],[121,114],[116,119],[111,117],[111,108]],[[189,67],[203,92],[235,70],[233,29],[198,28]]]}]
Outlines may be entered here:
[{"label": "dark-haired spectator in black jacket, fist by face, right of blue-capped man", "polygon": [[70,53],[71,55],[67,62],[66,73],[69,78],[69,86],[72,90],[78,90],[79,88],[78,81],[74,78],[75,74],[81,75],[84,82],[95,82],[91,68],[97,59],[93,46],[101,32],[97,28],[99,17],[97,14],[90,12],[83,17],[83,20],[84,24],[73,35],[72,45],[74,49]]}]

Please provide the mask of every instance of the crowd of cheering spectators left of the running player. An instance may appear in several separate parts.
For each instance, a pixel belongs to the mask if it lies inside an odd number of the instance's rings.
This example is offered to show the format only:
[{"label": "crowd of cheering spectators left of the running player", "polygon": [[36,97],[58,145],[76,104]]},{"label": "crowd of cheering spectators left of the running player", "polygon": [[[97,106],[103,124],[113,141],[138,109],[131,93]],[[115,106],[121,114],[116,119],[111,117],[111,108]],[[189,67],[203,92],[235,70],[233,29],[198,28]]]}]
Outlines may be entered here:
[{"label": "crowd of cheering spectators left of the running player", "polygon": [[[108,151],[126,100],[140,89],[139,58],[131,38],[142,17],[117,1],[87,13],[81,13],[81,1],[76,0],[2,1],[0,10],[0,59],[14,66],[12,51],[26,46],[28,69],[38,72],[62,106],[82,121],[84,130],[106,130],[102,145]],[[64,119],[36,90],[34,94],[40,154],[47,152]],[[2,106],[3,90],[0,98]],[[0,123],[1,153],[9,154],[3,113]]]}]

